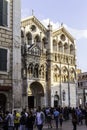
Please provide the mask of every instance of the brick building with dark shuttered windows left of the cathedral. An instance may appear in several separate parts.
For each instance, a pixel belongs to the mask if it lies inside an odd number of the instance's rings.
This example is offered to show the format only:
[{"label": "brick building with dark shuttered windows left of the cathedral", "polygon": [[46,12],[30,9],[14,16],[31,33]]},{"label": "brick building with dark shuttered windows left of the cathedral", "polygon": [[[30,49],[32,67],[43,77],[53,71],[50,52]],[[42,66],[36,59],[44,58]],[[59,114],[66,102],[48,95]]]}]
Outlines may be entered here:
[{"label": "brick building with dark shuttered windows left of the cathedral", "polygon": [[22,108],[20,5],[0,0],[0,111]]}]

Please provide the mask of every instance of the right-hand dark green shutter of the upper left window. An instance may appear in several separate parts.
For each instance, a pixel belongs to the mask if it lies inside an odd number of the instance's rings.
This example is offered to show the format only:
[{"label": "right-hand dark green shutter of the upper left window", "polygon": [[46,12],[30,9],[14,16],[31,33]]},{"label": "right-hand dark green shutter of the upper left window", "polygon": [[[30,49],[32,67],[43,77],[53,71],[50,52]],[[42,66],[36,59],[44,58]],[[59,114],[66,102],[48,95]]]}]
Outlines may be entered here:
[{"label": "right-hand dark green shutter of the upper left window", "polygon": [[3,1],[3,25],[7,26],[7,18],[8,18],[8,2],[6,0]]}]

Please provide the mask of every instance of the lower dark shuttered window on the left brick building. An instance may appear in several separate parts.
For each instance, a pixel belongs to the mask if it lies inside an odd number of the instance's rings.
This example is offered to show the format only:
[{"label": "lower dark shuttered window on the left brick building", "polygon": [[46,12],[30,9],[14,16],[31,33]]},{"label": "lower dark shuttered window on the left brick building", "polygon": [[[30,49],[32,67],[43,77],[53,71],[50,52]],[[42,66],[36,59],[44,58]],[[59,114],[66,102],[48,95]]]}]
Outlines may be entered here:
[{"label": "lower dark shuttered window on the left brick building", "polygon": [[0,48],[0,71],[7,71],[7,49]]}]

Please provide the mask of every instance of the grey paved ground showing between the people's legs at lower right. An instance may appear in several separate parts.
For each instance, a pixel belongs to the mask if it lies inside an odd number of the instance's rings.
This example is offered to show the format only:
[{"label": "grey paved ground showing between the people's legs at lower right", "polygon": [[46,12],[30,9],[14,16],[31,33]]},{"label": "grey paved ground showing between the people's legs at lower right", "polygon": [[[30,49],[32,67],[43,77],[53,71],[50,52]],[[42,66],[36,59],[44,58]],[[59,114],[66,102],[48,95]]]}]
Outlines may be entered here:
[{"label": "grey paved ground showing between the people's legs at lower right", "polygon": [[[37,130],[37,128],[34,128],[34,130]],[[53,122],[52,128],[48,128],[47,124],[45,124],[44,127],[43,127],[43,130],[56,130],[54,122]],[[60,126],[59,126],[58,130],[73,130],[71,120],[64,121],[62,128],[60,128]],[[83,122],[83,125],[77,125],[77,130],[87,130],[85,123]]]}]

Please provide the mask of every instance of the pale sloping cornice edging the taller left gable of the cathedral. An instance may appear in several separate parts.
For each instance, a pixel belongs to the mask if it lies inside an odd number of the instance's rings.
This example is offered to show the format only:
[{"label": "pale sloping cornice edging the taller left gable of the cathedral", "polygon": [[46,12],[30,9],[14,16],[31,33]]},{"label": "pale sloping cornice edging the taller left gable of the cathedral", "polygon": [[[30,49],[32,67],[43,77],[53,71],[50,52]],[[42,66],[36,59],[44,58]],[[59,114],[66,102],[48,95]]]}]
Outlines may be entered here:
[{"label": "pale sloping cornice edging the taller left gable of the cathedral", "polygon": [[31,16],[31,17],[21,20],[21,26],[27,26],[32,22],[35,23],[42,32],[45,33],[47,31],[45,26],[35,16]]}]

